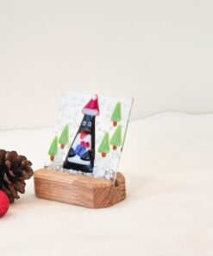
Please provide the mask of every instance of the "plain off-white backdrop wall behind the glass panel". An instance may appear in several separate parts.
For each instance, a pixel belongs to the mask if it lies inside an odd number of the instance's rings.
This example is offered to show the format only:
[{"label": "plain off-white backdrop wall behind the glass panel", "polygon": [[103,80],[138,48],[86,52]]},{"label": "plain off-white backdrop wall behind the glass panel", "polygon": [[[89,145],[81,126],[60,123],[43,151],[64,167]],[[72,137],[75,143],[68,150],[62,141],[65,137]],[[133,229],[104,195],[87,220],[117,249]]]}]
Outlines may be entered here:
[{"label": "plain off-white backdrop wall behind the glass panel", "polygon": [[131,95],[133,118],[213,111],[212,1],[2,0],[0,129],[55,123],[60,93]]}]

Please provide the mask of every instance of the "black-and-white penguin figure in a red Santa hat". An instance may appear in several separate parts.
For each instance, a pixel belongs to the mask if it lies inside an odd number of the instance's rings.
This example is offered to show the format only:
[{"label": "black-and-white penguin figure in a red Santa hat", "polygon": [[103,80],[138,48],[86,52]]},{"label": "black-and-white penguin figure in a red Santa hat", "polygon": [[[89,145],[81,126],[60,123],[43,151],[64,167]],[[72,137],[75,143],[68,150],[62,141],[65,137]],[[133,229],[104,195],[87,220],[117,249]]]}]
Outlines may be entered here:
[{"label": "black-and-white penguin figure in a red Santa hat", "polygon": [[97,95],[83,108],[84,118],[68,150],[63,168],[92,172],[95,160],[96,116],[99,114]]}]

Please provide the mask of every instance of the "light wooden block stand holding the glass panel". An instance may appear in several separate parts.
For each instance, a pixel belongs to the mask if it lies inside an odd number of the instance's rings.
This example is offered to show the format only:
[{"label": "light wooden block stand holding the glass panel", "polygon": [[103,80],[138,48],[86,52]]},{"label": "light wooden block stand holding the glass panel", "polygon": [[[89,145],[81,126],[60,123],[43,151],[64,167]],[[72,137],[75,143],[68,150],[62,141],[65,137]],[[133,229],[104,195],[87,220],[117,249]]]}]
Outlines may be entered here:
[{"label": "light wooden block stand holding the glass panel", "polygon": [[90,176],[78,176],[57,170],[34,172],[35,195],[87,208],[106,208],[126,197],[125,178],[116,174],[116,182]]}]

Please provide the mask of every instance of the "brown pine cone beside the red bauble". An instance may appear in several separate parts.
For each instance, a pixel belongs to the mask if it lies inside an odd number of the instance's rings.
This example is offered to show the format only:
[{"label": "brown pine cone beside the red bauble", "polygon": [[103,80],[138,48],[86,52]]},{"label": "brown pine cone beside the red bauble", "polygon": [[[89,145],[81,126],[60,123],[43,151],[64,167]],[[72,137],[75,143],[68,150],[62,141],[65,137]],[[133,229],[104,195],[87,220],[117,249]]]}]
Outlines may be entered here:
[{"label": "brown pine cone beside the red bauble", "polygon": [[25,180],[33,176],[32,163],[16,151],[0,150],[0,190],[8,195],[9,202],[18,199],[18,192],[24,193]]}]

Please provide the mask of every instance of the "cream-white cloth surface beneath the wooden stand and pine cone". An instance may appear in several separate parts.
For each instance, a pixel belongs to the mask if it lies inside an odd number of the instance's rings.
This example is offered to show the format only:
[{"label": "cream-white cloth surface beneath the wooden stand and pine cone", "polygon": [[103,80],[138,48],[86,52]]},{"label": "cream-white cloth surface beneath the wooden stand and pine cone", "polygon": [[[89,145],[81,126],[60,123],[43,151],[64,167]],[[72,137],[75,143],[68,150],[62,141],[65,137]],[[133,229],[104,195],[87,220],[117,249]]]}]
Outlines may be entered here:
[{"label": "cream-white cloth surface beneath the wooden stand and pine cone", "polygon": [[[54,129],[0,131],[1,148],[41,168]],[[36,198],[34,180],[0,219],[0,255],[204,256],[213,252],[213,115],[130,122],[126,200],[90,209]]]}]

